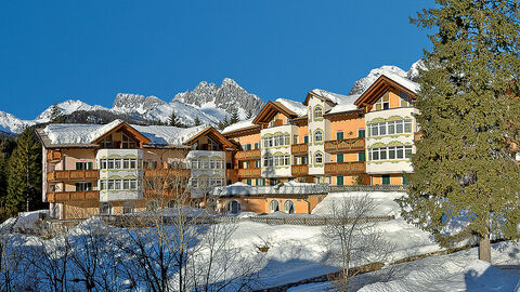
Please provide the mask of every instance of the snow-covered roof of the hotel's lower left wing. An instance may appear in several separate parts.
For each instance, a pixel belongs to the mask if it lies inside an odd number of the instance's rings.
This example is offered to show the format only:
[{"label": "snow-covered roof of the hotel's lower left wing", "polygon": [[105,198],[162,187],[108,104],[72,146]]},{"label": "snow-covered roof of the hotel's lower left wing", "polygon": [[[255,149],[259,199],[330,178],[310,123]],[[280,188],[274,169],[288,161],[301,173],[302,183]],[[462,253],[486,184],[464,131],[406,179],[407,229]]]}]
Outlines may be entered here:
[{"label": "snow-covered roof of the hotel's lower left wing", "polygon": [[[121,120],[114,120],[107,124],[52,123],[47,125],[43,132],[53,145],[92,144],[121,123],[123,123]],[[150,138],[151,145],[182,145],[186,140],[206,129],[206,125],[186,129],[169,125],[131,124],[130,127]]]}]

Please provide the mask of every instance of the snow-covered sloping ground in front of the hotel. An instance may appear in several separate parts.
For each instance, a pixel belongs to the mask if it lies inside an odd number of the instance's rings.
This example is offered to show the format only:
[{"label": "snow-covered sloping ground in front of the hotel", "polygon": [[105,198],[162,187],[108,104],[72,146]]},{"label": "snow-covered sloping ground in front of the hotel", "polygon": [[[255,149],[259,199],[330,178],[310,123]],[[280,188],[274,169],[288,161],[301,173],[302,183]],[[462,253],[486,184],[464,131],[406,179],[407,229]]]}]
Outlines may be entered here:
[{"label": "snow-covered sloping ground in front of the hotel", "polygon": [[[364,193],[330,194],[314,210],[312,216],[327,215],[332,205],[346,197],[362,196]],[[403,193],[372,193],[376,202],[373,215],[394,215],[395,220],[380,222],[375,226],[382,231],[385,240],[395,248],[388,263],[441,250],[428,233],[404,222],[399,215],[399,205],[393,201]],[[37,213],[24,214],[17,222],[31,225]],[[251,214],[242,214],[244,216]],[[10,220],[0,227],[5,230],[14,221]],[[82,233],[86,226],[102,224],[100,221],[87,221],[70,233]],[[119,228],[120,229],[120,228]],[[36,244],[34,236],[21,236],[20,242]],[[257,271],[261,287],[276,287],[297,282],[311,277],[322,276],[337,270],[326,264],[327,248],[322,237],[321,226],[268,225],[256,222],[236,224],[229,242],[245,258],[268,248],[264,257],[258,262]],[[520,247],[511,242],[493,245],[494,265],[519,265]],[[431,256],[424,260],[395,265],[392,267],[389,282],[379,282],[364,287],[363,291],[446,291],[473,290],[511,291],[519,279],[519,269],[505,269],[489,266],[476,261],[477,250],[471,249],[451,255]],[[387,268],[387,267],[386,267]],[[323,291],[330,288],[329,282],[312,283],[292,288],[291,291]],[[494,289],[494,290],[493,290]]]}]

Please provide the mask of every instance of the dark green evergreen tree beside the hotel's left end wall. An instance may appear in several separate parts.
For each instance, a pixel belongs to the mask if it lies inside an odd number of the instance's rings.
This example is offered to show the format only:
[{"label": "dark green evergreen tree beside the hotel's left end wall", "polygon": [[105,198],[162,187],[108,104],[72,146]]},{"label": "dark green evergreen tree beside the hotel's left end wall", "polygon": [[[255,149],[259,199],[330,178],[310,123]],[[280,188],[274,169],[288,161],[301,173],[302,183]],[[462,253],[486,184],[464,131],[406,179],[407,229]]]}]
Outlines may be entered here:
[{"label": "dark green evergreen tree beside the hotel's left end wall", "polygon": [[11,215],[41,205],[41,145],[30,128],[18,135],[16,143],[9,159],[5,197],[5,207]]}]

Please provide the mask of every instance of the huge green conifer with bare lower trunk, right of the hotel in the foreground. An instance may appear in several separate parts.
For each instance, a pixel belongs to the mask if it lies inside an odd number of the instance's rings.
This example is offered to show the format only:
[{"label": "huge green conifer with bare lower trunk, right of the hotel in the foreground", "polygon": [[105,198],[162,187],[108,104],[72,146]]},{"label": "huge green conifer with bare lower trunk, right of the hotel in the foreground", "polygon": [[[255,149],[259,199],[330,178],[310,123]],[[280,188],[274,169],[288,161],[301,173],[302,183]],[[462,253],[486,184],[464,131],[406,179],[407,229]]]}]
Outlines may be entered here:
[{"label": "huge green conifer with bare lower trunk, right of the hotel in the foreground", "polygon": [[[519,1],[435,1],[412,23],[433,29],[417,95],[422,136],[412,158],[403,217],[441,245],[478,237],[491,262],[490,236],[519,237],[520,168],[511,138],[520,132]],[[452,228],[458,223],[458,228]]]}]

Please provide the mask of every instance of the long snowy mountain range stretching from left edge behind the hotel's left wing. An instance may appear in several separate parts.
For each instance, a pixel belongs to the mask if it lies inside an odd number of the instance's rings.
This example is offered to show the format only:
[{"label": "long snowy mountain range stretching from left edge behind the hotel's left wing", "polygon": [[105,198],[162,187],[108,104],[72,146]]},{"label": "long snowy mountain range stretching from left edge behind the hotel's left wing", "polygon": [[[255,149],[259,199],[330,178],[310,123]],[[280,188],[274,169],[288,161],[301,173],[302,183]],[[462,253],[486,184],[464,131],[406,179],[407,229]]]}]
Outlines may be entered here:
[{"label": "long snowy mountain range stretching from left edge behind the hotel's left wing", "polygon": [[[224,116],[231,116],[234,108],[238,110],[240,119],[245,119],[248,111],[255,115],[264,104],[260,97],[248,93],[234,80],[226,78],[220,87],[203,81],[193,91],[178,93],[170,103],[156,96],[119,93],[112,108],[92,106],[74,99],[65,101],[56,106],[65,116],[82,111],[90,112],[89,122],[103,120],[92,118],[101,111],[104,116],[125,115],[135,121],[144,122],[158,120],[168,122],[171,112],[176,112],[178,121],[186,125],[194,124],[197,118],[203,124],[216,125]],[[49,122],[51,112],[52,106],[35,120],[22,120],[11,114],[0,111],[0,131],[20,133],[26,127]]]}]

